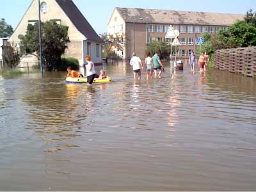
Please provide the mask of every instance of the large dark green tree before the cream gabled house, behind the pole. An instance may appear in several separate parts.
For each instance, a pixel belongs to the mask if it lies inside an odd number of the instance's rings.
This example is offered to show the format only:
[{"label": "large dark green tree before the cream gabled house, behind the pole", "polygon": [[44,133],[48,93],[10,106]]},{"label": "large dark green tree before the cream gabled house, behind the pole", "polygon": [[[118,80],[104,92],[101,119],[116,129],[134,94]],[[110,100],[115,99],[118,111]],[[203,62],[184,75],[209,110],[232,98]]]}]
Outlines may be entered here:
[{"label": "large dark green tree before the cream gabled house, behind the pole", "polygon": [[[39,56],[39,32],[38,23],[35,26],[29,24],[26,35],[19,36],[20,51],[22,54],[34,54]],[[42,22],[42,45],[44,65],[48,70],[59,68],[61,55],[67,49],[68,26],[56,24],[54,21]]]}]

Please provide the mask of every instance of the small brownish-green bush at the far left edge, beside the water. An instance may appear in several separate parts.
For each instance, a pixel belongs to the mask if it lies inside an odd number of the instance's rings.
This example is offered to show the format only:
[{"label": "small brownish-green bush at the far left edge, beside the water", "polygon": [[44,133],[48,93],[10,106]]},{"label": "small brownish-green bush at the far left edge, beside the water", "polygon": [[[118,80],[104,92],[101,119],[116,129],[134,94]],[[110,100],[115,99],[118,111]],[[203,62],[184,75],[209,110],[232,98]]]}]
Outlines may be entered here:
[{"label": "small brownish-green bush at the far left edge, beside the water", "polygon": [[20,54],[17,45],[3,46],[3,60],[5,67],[16,67],[20,61]]}]

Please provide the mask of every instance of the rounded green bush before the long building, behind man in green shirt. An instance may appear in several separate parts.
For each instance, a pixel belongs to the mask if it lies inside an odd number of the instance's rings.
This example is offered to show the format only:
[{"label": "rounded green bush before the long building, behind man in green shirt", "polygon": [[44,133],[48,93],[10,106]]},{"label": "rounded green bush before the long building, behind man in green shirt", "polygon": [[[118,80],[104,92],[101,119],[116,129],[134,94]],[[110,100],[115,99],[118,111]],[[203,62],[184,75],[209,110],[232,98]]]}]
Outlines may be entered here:
[{"label": "rounded green bush before the long building, behind man in green shirt", "polygon": [[153,41],[147,44],[146,52],[150,52],[151,55],[154,55],[156,52],[159,52],[161,58],[169,58],[170,56],[170,45],[166,45],[165,42]]}]

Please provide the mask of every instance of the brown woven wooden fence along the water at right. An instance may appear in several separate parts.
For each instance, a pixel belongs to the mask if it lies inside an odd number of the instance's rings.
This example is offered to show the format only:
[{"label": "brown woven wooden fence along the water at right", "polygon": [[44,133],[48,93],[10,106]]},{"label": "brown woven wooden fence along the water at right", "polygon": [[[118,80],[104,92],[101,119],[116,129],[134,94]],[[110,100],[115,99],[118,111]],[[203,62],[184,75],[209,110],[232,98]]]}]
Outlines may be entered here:
[{"label": "brown woven wooden fence along the water at right", "polygon": [[214,68],[256,77],[256,47],[217,50]]}]

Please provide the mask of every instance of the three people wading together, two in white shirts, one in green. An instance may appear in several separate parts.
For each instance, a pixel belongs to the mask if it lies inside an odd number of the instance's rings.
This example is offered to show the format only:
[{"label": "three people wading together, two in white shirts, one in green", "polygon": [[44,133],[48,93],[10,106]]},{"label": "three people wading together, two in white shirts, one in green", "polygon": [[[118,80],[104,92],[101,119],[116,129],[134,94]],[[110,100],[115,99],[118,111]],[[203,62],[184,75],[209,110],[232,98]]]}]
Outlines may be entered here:
[{"label": "three people wading together, two in white shirts, one in green", "polygon": [[164,72],[164,67],[162,61],[160,60],[159,52],[156,52],[153,57],[151,57],[150,53],[148,53],[144,63],[138,56],[136,56],[136,53],[133,52],[130,65],[132,65],[133,68],[134,79],[137,79],[137,75],[138,79],[141,79],[141,70],[144,69],[147,72],[147,79],[153,79],[153,72],[155,73],[155,78],[161,78],[161,74]]}]

